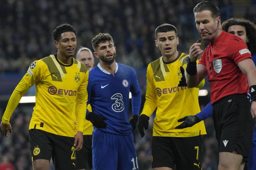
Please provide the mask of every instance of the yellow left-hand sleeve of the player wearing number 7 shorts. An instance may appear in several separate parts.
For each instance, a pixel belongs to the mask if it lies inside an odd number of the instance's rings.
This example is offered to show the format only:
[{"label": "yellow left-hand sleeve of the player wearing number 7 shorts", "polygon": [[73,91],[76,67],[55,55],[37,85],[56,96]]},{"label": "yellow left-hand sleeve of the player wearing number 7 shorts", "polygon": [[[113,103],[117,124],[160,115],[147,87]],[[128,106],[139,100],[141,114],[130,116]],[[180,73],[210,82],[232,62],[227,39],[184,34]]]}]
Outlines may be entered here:
[{"label": "yellow left-hand sleeve of the player wearing number 7 shorts", "polygon": [[150,116],[155,108],[157,107],[157,97],[154,92],[154,86],[153,86],[153,71],[151,69],[151,66],[147,67],[147,90],[146,90],[146,101],[144,103],[143,110],[141,114],[145,114],[146,116]]}]

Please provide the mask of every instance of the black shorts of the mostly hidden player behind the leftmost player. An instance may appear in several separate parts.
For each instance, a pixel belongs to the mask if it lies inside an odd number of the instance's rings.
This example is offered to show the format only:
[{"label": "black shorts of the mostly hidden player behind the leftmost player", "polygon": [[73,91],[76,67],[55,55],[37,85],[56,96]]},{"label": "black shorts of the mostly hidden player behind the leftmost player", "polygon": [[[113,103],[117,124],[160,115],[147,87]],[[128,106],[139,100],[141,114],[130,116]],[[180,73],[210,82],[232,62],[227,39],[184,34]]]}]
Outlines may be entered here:
[{"label": "black shorts of the mostly hidden player behind the leftmost player", "polygon": [[92,164],[92,144],[93,135],[83,135],[83,147],[80,151],[75,152],[75,169],[93,168]]}]

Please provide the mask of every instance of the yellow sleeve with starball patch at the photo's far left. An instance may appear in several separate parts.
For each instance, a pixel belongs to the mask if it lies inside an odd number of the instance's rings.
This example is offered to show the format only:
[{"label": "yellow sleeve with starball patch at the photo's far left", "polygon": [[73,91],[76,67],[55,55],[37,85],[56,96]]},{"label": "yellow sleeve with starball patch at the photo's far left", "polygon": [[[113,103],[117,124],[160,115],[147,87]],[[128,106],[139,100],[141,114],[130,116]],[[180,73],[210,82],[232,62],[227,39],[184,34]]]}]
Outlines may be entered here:
[{"label": "yellow sleeve with starball patch at the photo's far left", "polygon": [[[21,97],[29,90],[30,87],[34,85],[35,82],[39,79],[40,67],[36,66],[38,61],[34,61],[27,71],[27,73],[23,76],[19,84],[16,86],[13,94],[11,95],[7,107],[5,109],[5,113],[2,117],[2,122],[4,124],[9,124],[11,115],[13,114],[15,108],[19,104]],[[33,67],[32,67],[33,66]],[[31,69],[33,68],[33,69]]]}]

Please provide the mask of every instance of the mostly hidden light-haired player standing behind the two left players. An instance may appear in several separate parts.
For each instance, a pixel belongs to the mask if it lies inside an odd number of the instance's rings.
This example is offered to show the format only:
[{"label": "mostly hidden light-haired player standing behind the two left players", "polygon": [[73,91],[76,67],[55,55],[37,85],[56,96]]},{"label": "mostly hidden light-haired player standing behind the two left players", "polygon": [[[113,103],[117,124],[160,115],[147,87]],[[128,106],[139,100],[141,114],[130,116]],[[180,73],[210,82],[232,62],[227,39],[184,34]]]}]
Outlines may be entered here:
[{"label": "mostly hidden light-haired player standing behind the two left players", "polygon": [[[93,53],[89,48],[82,47],[78,50],[76,55],[77,61],[80,61],[90,71],[94,65],[94,57]],[[91,112],[91,105],[87,105],[87,109]],[[85,120],[83,127],[83,148],[81,151],[76,153],[76,161],[75,161],[75,169],[85,170],[85,169],[93,169],[92,164],[92,145],[93,139],[93,124],[90,121]]]}]

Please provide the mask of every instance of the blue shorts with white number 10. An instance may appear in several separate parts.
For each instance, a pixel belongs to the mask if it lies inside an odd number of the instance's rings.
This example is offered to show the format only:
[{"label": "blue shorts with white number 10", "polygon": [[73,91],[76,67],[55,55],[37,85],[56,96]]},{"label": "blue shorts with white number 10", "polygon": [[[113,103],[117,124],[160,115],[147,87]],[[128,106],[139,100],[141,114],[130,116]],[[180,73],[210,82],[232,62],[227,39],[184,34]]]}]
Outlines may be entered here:
[{"label": "blue shorts with white number 10", "polygon": [[93,131],[93,170],[138,170],[133,134],[115,135]]}]

